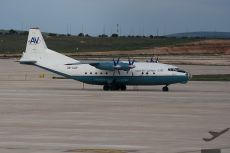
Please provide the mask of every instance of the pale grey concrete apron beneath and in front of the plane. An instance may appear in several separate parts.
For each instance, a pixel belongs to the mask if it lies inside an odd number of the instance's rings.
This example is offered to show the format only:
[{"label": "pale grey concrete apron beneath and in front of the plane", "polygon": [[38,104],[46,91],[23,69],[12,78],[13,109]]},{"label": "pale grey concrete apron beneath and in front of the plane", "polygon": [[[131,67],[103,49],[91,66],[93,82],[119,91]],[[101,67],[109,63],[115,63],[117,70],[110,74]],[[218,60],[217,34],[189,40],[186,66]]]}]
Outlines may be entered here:
[{"label": "pale grey concrete apron beneath and in front of the plane", "polygon": [[230,82],[105,92],[41,77],[45,71],[12,60],[0,63],[1,153],[229,153],[229,131],[202,138],[230,127]]}]

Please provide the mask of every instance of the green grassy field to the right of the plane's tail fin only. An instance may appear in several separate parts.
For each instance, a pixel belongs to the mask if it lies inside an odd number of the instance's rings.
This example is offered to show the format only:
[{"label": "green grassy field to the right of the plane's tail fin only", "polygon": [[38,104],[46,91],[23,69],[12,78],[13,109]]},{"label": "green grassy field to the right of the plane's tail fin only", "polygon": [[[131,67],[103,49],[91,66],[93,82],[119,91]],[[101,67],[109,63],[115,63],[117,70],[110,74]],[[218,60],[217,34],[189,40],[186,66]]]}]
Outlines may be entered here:
[{"label": "green grassy field to the right of the plane's tail fin only", "polygon": [[94,52],[114,50],[138,50],[160,46],[174,46],[194,39],[150,39],[127,37],[49,37],[46,39],[49,48],[60,52]]}]

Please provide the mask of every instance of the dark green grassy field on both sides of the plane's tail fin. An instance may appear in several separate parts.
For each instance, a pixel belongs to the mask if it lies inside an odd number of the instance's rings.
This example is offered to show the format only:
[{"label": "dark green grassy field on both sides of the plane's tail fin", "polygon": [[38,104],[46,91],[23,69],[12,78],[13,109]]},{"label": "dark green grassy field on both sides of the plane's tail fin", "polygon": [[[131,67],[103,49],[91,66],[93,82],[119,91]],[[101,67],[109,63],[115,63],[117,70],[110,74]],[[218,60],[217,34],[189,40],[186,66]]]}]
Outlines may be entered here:
[{"label": "dark green grassy field on both sides of the plane's tail fin", "polygon": [[[47,46],[58,52],[94,52],[114,50],[139,50],[162,46],[178,46],[198,41],[195,38],[153,38],[153,37],[81,37],[57,34],[43,34]],[[18,54],[25,50],[26,32],[0,33],[0,54]]]}]

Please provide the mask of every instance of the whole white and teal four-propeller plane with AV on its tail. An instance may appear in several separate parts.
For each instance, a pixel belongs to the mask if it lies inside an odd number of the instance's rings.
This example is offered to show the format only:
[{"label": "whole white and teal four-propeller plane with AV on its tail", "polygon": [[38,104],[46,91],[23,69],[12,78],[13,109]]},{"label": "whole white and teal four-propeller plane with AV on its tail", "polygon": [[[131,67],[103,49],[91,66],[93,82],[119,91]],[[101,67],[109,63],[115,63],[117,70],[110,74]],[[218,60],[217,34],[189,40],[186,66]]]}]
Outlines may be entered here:
[{"label": "whole white and teal four-propeller plane with AV on its tail", "polygon": [[111,60],[81,62],[47,48],[39,28],[31,28],[21,64],[30,64],[66,78],[93,85],[103,90],[126,90],[127,85],[164,85],[187,83],[191,75],[176,66],[158,61],[135,62]]}]

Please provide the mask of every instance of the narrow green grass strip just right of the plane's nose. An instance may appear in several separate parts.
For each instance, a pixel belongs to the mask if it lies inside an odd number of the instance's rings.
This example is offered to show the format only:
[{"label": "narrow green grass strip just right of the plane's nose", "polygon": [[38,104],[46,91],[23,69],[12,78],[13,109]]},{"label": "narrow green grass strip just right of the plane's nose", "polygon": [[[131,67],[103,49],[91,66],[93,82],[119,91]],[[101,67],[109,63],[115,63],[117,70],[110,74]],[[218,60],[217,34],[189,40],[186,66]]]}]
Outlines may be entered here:
[{"label": "narrow green grass strip just right of the plane's nose", "polygon": [[230,81],[230,74],[193,75],[191,81]]}]

